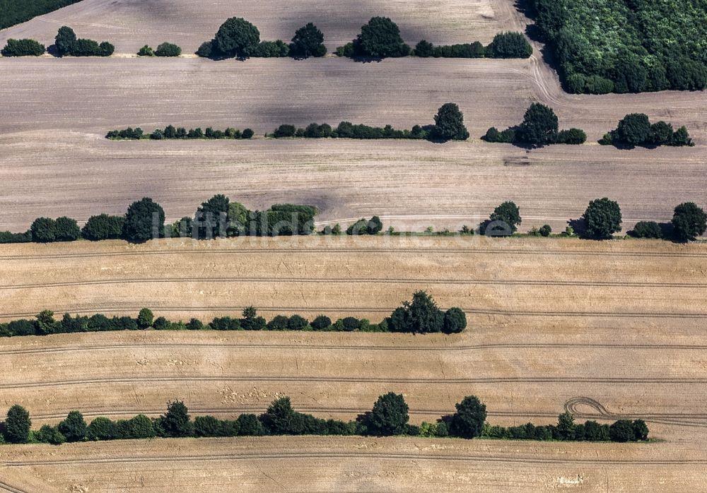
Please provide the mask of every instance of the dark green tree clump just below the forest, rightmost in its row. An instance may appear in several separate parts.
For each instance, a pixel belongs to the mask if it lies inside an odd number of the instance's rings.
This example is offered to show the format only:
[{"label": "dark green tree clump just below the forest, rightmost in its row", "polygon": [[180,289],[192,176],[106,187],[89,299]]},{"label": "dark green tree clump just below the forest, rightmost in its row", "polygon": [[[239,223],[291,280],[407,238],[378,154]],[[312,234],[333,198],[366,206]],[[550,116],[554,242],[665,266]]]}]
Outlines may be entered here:
[{"label": "dark green tree clump just below the forest, rightmost in its row", "polygon": [[671,124],[662,120],[651,124],[648,115],[644,113],[627,114],[619,121],[616,129],[604,134],[599,143],[626,148],[633,148],[636,145],[644,147],[695,145],[685,126],[673,130]]}]

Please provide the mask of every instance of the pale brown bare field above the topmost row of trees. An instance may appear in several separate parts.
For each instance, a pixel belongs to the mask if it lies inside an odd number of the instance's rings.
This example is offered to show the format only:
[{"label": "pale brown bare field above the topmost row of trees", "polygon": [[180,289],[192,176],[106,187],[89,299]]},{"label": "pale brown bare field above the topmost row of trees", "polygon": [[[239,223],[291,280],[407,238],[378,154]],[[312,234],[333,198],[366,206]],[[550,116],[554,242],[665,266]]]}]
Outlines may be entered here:
[{"label": "pale brown bare field above the topmost row of trees", "polygon": [[298,28],[315,23],[333,51],[356,37],[361,25],[374,16],[395,20],[404,40],[413,45],[422,39],[436,44],[477,40],[486,44],[496,33],[520,25],[513,4],[506,0],[303,0],[286,5],[233,0],[208,4],[194,0],[83,0],[0,31],[0,44],[4,46],[9,37],[31,37],[49,45],[59,27],[69,25],[79,37],[112,42],[119,53],[136,53],[144,44],[156,47],[165,41],[193,53],[199,44],[214,37],[224,20],[243,17],[257,26],[261,39],[286,42]]}]

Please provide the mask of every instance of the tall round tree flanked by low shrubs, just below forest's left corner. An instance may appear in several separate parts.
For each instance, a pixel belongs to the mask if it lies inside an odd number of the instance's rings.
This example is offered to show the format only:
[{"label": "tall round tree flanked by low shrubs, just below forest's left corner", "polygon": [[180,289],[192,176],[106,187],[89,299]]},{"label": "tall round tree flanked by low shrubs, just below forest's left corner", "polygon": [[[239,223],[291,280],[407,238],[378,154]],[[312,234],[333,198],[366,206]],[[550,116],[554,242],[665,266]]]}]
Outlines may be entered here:
[{"label": "tall round tree flanked by low shrubs, just below forest's left corner", "polygon": [[482,139],[486,142],[542,147],[549,144],[583,144],[587,141],[587,134],[581,129],[560,130],[553,109],[536,102],[527,109],[520,125],[504,131],[492,126]]}]

